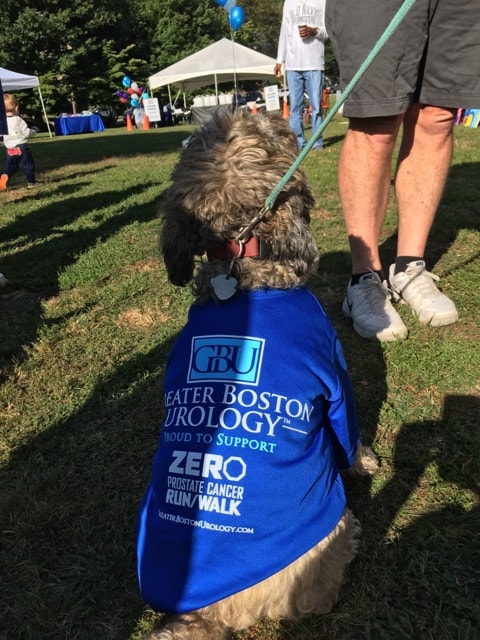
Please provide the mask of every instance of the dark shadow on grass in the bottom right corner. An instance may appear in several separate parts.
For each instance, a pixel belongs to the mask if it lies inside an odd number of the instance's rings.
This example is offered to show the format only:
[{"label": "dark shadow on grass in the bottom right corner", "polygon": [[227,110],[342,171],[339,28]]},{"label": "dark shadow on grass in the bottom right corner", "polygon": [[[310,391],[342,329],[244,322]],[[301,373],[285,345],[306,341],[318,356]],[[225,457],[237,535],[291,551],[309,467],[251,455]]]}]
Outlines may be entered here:
[{"label": "dark shadow on grass in the bottom right corner", "polygon": [[[404,425],[391,480],[373,499],[347,480],[361,508],[360,552],[340,601],[307,624],[282,624],[282,640],[476,640],[480,637],[480,432],[478,396],[447,396],[438,422]],[[451,483],[448,504],[393,526],[421,491],[428,467]],[[460,490],[463,497],[460,495]],[[359,497],[359,492],[363,497]],[[470,500],[465,495],[470,493]],[[369,602],[368,609],[365,602]],[[368,610],[368,615],[365,613]],[[250,636],[248,636],[250,637]]]}]

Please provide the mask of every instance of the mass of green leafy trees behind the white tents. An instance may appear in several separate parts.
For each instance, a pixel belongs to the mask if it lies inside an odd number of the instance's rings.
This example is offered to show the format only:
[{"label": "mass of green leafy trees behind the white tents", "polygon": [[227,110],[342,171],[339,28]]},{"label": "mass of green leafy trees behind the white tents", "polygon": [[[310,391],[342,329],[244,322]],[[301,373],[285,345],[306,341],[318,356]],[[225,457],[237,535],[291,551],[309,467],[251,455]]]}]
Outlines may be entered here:
[{"label": "mass of green leafy trees behind the white tents", "polygon": [[[39,76],[49,113],[118,108],[123,75],[144,84],[224,37],[275,57],[283,0],[237,3],[246,20],[232,33],[215,0],[2,0],[0,65]],[[332,67],[333,53],[326,60]],[[22,95],[22,105],[33,113],[35,96]]]}]

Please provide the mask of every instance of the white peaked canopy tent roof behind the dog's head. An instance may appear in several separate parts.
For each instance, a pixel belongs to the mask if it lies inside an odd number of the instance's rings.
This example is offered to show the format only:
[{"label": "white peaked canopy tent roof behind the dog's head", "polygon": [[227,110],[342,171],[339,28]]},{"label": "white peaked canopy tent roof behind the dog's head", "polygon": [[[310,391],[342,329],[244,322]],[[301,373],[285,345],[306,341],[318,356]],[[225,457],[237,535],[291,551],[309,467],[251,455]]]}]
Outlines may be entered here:
[{"label": "white peaked canopy tent roof behind the dog's head", "polygon": [[[148,78],[150,91],[170,85],[185,92],[201,87],[215,86],[243,80],[272,80],[276,60],[241,44],[222,38],[208,47],[187,56]],[[171,96],[170,96],[171,101]]]}]

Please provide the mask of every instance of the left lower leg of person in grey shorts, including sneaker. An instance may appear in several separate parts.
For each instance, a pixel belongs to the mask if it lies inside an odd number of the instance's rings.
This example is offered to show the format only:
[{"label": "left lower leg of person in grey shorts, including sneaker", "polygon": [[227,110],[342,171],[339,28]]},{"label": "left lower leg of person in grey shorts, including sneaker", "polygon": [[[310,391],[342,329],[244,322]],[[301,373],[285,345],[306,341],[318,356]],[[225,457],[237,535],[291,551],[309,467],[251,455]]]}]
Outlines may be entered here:
[{"label": "left lower leg of person in grey shorts, including sneaker", "polygon": [[352,257],[343,313],[369,340],[402,340],[407,328],[390,301],[380,271],[379,240],[391,180],[392,154],[402,116],[350,120],[338,179]]}]

